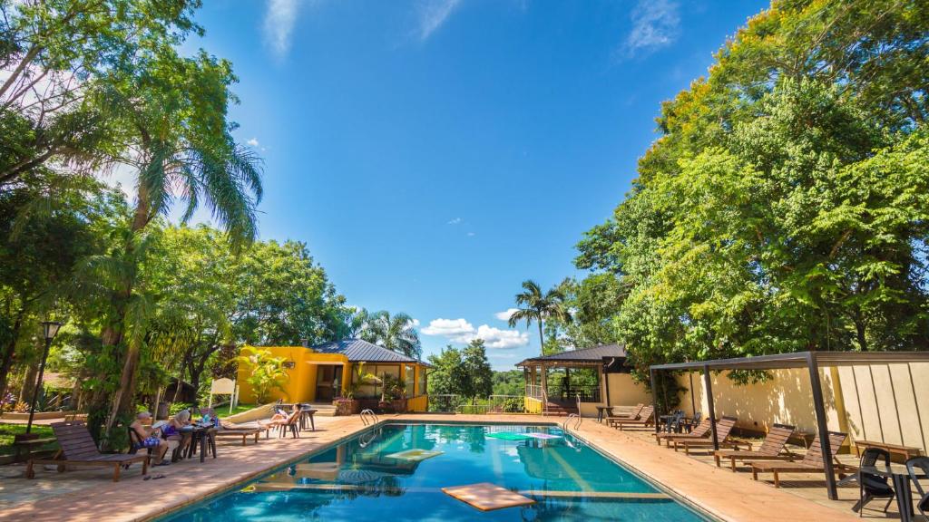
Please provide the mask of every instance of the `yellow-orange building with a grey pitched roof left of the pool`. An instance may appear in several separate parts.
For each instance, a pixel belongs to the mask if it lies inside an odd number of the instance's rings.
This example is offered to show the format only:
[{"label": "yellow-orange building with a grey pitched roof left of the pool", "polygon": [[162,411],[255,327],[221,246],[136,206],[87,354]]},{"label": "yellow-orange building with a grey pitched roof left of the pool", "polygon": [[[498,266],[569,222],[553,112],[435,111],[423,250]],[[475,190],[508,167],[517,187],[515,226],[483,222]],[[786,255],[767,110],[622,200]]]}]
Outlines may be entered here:
[{"label": "yellow-orange building with a grey pitched roof left of the pool", "polygon": [[[345,397],[356,388],[354,398],[365,403],[381,397],[380,383],[359,383],[358,369],[363,364],[363,373],[372,373],[379,378],[385,375],[399,379],[406,385],[407,410],[426,411],[426,369],[428,364],[403,354],[373,345],[360,339],[346,339],[317,346],[263,346],[274,357],[285,359],[284,367],[288,378],[283,389],[270,393],[272,400],[286,402],[329,403],[334,398]],[[251,369],[240,364],[238,382],[240,398],[244,403],[254,403],[255,394],[248,384]]]}]

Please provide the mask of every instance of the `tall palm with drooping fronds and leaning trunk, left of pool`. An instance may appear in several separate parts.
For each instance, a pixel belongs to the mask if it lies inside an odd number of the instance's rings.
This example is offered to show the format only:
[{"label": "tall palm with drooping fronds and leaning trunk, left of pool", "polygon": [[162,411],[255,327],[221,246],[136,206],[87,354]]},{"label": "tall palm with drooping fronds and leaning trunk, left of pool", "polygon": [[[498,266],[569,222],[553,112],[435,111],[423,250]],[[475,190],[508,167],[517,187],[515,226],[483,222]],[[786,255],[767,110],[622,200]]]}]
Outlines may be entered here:
[{"label": "tall palm with drooping fronds and leaning trunk, left of pool", "polygon": [[[112,399],[106,428],[119,412],[130,411],[136,389],[141,339],[127,335],[149,307],[138,299],[138,244],[148,226],[165,215],[178,198],[186,200],[187,221],[203,202],[238,249],[257,233],[255,205],[261,199],[260,159],[238,145],[227,120],[235,102],[235,81],[228,62],[201,53],[196,58],[158,56],[137,74],[117,76],[104,94],[112,118],[124,129],[126,150],[114,161],[136,170],[136,207],[120,253],[124,267],[111,295],[110,318],[103,327],[104,346],[124,346],[122,374]],[[143,73],[147,72],[147,73]],[[188,96],[187,93],[197,93]],[[137,305],[137,306],[134,306]],[[118,353],[118,352],[117,352]]]}]

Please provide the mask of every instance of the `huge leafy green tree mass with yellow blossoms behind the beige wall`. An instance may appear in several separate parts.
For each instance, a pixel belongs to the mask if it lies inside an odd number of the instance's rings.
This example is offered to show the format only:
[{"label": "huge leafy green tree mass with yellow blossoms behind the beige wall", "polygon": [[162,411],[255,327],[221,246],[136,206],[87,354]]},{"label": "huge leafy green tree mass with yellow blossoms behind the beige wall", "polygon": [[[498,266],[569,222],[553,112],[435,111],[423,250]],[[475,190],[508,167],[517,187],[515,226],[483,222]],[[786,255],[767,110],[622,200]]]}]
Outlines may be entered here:
[{"label": "huge leafy green tree mass with yellow blossoms behind the beige wall", "polygon": [[752,18],[663,104],[633,190],[579,243],[588,303],[609,304],[572,305],[580,322],[640,371],[929,347],[924,13],[792,0]]}]

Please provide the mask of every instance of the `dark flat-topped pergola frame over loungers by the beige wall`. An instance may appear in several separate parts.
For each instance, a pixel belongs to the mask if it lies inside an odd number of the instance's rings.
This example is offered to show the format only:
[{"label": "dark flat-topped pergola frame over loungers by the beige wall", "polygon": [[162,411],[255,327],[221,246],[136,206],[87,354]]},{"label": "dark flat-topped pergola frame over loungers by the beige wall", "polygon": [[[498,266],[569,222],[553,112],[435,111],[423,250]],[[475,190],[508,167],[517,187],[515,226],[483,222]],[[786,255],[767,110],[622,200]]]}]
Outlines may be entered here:
[{"label": "dark flat-topped pergola frame over loungers by the beige wall", "polygon": [[[706,386],[707,409],[709,410],[713,449],[719,450],[719,437],[716,435],[716,417],[713,411],[713,383],[710,372],[724,370],[787,370],[806,368],[809,372],[810,388],[813,395],[813,409],[816,413],[819,444],[822,448],[822,463],[826,470],[826,487],[829,498],[838,500],[832,451],[829,442],[829,428],[826,424],[826,406],[823,401],[822,384],[819,380],[820,367],[833,366],[868,366],[872,364],[901,364],[908,362],[929,362],[929,352],[797,352],[778,355],[763,355],[739,359],[713,359],[673,364],[657,364],[648,367],[651,382],[660,372],[703,372]],[[654,389],[654,385],[652,387]],[[658,399],[652,393],[655,411],[658,411]],[[656,433],[659,423],[655,423]]]}]

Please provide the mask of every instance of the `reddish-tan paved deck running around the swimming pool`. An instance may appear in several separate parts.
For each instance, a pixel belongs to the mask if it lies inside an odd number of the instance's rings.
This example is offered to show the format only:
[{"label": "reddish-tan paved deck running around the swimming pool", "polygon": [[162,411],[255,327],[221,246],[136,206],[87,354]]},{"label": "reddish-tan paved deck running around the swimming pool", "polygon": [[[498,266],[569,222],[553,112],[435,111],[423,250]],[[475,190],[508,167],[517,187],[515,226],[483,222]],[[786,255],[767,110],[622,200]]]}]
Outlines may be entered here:
[{"label": "reddish-tan paved deck running around the swimming pool", "polygon": [[[563,419],[530,415],[399,415],[382,421],[415,420],[456,423],[554,424]],[[111,481],[106,470],[77,470],[58,474],[40,469],[34,480],[26,480],[24,466],[0,467],[0,512],[4,520],[146,520],[196,502],[205,496],[241,484],[272,467],[301,458],[337,440],[364,429],[358,417],[322,417],[316,432],[300,438],[262,439],[242,447],[231,440],[219,445],[219,457],[158,466],[150,474],[163,479],[141,479],[134,465],[120,482]],[[732,473],[659,447],[648,433],[619,432],[585,419],[575,434],[618,461],[661,483],[676,496],[700,505],[726,521],[860,520],[849,510],[850,503],[826,499],[825,488],[775,489],[751,474]],[[705,459],[704,459],[705,461]],[[807,476],[807,480],[818,480]],[[808,493],[808,490],[814,493]],[[816,492],[818,491],[818,492]],[[854,488],[857,493],[857,488]],[[805,498],[805,495],[809,498]],[[847,494],[845,496],[848,496]],[[878,503],[878,502],[875,502]],[[883,502],[881,502],[883,505]],[[876,510],[866,516],[874,517]],[[881,514],[883,518],[883,514]]]}]

